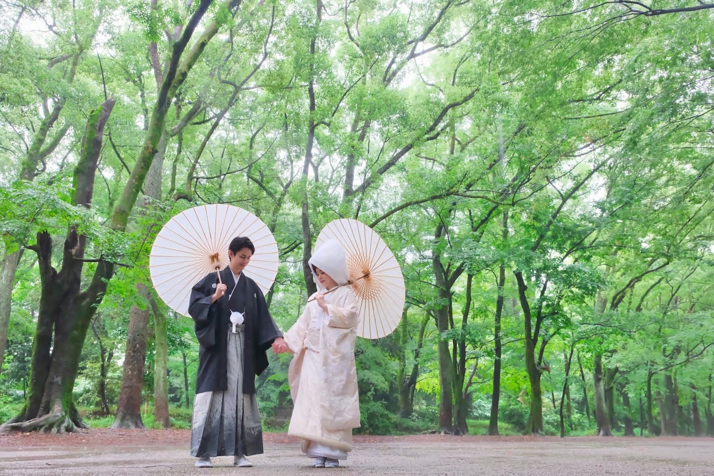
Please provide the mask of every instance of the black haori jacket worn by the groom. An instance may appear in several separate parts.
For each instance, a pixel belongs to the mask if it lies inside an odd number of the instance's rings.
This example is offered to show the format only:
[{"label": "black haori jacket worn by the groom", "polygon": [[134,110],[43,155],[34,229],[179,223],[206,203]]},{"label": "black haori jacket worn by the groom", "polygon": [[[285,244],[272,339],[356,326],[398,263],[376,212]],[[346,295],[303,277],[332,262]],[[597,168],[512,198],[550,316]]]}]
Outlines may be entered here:
[{"label": "black haori jacket worn by the groom", "polygon": [[218,283],[216,273],[210,273],[198,281],[191,288],[188,301],[188,314],[196,323],[196,338],[200,344],[196,393],[228,389],[227,345],[231,310],[245,313],[243,393],[256,393],[255,375],[260,375],[268,367],[266,350],[282,334],[268,312],[263,291],[255,281],[241,273],[238,285],[233,290],[236,282],[228,267],[221,271],[221,280],[228,290],[215,303],[211,304],[211,296],[216,292]]}]

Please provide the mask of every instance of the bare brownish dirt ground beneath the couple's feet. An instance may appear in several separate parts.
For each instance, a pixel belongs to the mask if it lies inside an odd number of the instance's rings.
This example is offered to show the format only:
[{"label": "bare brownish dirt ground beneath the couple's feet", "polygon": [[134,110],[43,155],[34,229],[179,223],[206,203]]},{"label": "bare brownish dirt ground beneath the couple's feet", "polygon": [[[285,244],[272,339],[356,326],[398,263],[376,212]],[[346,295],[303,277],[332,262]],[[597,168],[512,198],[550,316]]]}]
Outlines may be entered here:
[{"label": "bare brownish dirt ground beneath the couple's feet", "polygon": [[346,467],[308,467],[298,441],[266,434],[253,468],[231,457],[198,470],[188,430],[91,430],[72,435],[0,436],[2,475],[714,475],[714,439],[597,437],[356,436]]}]

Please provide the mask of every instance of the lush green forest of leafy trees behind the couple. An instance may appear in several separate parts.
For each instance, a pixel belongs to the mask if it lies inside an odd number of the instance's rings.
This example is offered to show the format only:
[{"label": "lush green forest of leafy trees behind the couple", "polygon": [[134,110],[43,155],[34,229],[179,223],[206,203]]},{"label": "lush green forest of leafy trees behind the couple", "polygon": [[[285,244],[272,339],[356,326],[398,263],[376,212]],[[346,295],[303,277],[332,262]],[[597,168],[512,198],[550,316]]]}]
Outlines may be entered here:
[{"label": "lush green forest of leafy trees behind the couple", "polygon": [[198,342],[149,253],[226,203],[278,243],[283,330],[327,223],[396,256],[358,432],[714,437],[714,4],[0,9],[0,432],[190,427]]}]

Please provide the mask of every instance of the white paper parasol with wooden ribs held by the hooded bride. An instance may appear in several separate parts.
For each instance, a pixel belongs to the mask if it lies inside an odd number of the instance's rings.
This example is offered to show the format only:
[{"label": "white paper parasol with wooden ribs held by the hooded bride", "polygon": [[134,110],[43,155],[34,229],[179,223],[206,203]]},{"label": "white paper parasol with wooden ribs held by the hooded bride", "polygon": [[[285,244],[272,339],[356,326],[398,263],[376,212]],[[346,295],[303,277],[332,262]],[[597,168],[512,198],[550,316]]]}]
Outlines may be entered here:
[{"label": "white paper parasol with wooden ribs held by the hooded bride", "polygon": [[384,240],[361,221],[343,218],[328,223],[315,248],[335,239],[345,249],[352,288],[357,295],[357,333],[377,339],[392,333],[404,308],[404,277]]}]

